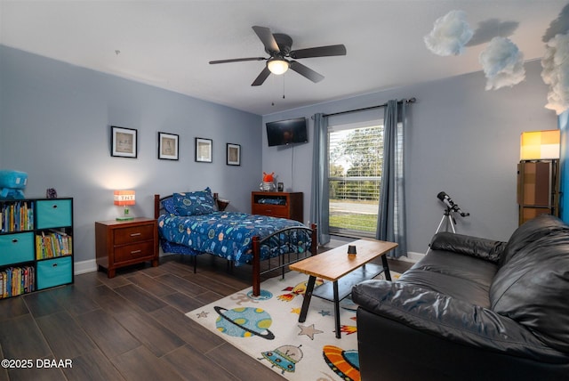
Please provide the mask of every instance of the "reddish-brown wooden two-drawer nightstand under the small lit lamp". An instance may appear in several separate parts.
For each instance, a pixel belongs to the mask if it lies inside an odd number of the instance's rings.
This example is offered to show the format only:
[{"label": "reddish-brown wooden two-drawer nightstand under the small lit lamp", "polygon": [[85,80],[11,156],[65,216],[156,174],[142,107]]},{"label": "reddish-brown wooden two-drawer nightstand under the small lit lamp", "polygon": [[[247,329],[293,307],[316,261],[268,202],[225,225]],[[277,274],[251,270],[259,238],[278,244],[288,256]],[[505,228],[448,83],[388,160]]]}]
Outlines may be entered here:
[{"label": "reddish-brown wooden two-drawer nightstand under the small lit lamp", "polygon": [[108,278],[113,278],[119,267],[146,261],[158,265],[158,229],[152,218],[98,221],[95,245],[97,266],[107,269]]}]

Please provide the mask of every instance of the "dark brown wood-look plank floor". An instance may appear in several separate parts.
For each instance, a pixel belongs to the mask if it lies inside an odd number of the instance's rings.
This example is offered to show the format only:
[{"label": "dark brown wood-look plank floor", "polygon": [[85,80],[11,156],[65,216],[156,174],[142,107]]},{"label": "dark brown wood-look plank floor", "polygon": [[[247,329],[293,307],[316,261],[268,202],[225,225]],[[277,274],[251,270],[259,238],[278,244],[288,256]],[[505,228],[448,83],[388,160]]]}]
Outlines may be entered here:
[{"label": "dark brown wood-look plank floor", "polygon": [[[409,267],[389,263],[397,272]],[[113,279],[89,272],[73,285],[1,300],[1,357],[32,367],[0,369],[0,380],[282,380],[184,316],[249,287],[250,277],[249,266],[229,274],[211,255],[199,257],[194,273],[172,255]],[[41,359],[72,361],[72,368],[48,368],[52,362]]]}]

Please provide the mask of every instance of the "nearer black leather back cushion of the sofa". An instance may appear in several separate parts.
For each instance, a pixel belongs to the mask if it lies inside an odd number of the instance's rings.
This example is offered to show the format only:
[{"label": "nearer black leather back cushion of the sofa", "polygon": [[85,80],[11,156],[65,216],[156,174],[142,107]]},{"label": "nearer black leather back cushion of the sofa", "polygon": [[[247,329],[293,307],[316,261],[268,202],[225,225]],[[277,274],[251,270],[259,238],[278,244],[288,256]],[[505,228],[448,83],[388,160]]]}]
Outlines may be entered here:
[{"label": "nearer black leather back cushion of the sofa", "polygon": [[549,234],[526,243],[501,266],[490,302],[494,312],[569,353],[569,231],[548,226]]}]

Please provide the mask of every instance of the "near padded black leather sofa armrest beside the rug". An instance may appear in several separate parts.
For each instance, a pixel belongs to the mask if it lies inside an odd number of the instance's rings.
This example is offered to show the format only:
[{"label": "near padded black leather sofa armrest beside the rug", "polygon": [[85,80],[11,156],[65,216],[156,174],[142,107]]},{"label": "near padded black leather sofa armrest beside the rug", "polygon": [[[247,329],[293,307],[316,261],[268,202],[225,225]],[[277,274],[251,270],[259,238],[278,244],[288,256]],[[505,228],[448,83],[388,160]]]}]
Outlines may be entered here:
[{"label": "near padded black leather sofa armrest beside the rug", "polygon": [[515,320],[425,288],[366,280],[352,289],[352,299],[368,312],[455,344],[537,361],[566,360]]}]

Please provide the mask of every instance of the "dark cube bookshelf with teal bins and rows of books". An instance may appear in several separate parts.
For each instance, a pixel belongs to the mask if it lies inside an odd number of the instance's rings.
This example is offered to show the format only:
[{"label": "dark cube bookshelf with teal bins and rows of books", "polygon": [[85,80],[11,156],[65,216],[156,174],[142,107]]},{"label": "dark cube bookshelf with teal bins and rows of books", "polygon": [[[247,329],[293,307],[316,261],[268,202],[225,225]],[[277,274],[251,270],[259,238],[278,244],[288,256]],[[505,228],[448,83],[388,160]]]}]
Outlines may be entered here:
[{"label": "dark cube bookshelf with teal bins and rows of books", "polygon": [[0,299],[73,283],[73,199],[0,199]]}]

